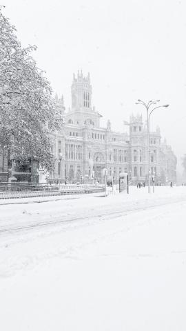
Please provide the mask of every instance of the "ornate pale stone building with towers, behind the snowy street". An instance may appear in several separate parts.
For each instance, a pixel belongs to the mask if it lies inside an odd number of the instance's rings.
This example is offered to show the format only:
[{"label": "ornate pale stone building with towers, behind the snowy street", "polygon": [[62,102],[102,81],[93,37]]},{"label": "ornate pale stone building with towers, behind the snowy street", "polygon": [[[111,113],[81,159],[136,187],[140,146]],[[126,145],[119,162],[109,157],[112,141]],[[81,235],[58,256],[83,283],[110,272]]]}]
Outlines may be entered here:
[{"label": "ornate pale stone building with towers, behind the snowy street", "polygon": [[[101,128],[101,114],[92,107],[90,74],[77,74],[72,81],[72,108],[65,112],[63,99],[57,99],[65,125],[53,135],[56,159],[51,179],[59,181],[102,181],[102,170],[118,180],[120,172],[128,172],[130,181],[147,181],[147,129],[142,117],[130,117],[130,134]],[[171,161],[167,161],[167,160]],[[176,157],[171,148],[161,144],[159,128],[150,133],[151,172],[156,182],[176,181]],[[171,170],[169,169],[171,168]],[[166,174],[165,174],[166,172]],[[162,174],[165,174],[163,177]],[[169,174],[169,177],[167,177]],[[164,181],[164,182],[163,182]]]}]

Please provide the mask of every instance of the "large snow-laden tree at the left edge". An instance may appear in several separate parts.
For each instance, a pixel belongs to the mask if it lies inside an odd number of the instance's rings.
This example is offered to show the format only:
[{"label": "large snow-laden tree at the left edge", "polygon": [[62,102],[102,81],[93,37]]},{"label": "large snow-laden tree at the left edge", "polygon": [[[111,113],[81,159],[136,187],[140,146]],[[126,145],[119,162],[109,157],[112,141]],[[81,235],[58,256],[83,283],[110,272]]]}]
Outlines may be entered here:
[{"label": "large snow-laden tree at the left edge", "polygon": [[31,56],[36,49],[21,48],[0,8],[0,149],[38,157],[50,169],[50,132],[61,128],[62,118],[50,83]]}]

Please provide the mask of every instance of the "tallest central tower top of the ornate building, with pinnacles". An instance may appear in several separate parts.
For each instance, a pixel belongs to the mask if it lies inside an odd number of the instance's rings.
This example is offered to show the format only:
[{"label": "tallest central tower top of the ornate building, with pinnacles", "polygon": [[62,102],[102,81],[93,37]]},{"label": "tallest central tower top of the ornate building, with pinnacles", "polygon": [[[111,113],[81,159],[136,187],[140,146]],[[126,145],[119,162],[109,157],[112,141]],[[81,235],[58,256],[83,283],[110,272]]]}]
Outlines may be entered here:
[{"label": "tallest central tower top of the ornate building, with pinnacles", "polygon": [[91,98],[92,98],[92,86],[90,85],[90,73],[87,77],[83,77],[81,74],[73,74],[72,81],[72,109],[73,110],[90,110],[91,109]]}]

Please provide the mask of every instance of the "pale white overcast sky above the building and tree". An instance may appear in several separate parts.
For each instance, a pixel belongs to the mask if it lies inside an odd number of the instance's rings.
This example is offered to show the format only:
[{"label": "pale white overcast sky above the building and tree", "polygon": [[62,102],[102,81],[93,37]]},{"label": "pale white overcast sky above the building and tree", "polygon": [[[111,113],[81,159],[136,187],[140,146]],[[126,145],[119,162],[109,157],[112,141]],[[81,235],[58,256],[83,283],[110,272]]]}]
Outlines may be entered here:
[{"label": "pale white overcast sky above the building and tree", "polygon": [[176,156],[186,153],[185,0],[1,0],[23,46],[38,46],[34,59],[54,92],[71,106],[72,73],[90,72],[92,104],[112,129],[145,109],[137,99],[161,99],[158,124]]}]

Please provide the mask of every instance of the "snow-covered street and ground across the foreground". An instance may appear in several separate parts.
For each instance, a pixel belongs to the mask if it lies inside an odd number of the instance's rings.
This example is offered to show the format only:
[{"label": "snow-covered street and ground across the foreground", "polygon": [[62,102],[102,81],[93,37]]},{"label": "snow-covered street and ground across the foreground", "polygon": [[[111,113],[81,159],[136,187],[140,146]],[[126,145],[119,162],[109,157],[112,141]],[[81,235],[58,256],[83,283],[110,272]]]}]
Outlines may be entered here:
[{"label": "snow-covered street and ground across the foreground", "polygon": [[1,201],[1,330],[186,330],[186,187],[52,200]]}]

